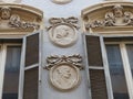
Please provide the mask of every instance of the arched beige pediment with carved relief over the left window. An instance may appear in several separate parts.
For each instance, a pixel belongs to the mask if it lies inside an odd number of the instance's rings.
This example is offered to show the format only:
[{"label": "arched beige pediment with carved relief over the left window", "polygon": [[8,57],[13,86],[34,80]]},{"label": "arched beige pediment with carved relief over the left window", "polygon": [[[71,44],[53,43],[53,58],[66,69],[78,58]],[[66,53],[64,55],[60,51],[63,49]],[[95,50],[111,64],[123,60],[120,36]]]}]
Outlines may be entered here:
[{"label": "arched beige pediment with carved relief over the left window", "polygon": [[43,12],[23,4],[0,4],[0,32],[39,30]]}]

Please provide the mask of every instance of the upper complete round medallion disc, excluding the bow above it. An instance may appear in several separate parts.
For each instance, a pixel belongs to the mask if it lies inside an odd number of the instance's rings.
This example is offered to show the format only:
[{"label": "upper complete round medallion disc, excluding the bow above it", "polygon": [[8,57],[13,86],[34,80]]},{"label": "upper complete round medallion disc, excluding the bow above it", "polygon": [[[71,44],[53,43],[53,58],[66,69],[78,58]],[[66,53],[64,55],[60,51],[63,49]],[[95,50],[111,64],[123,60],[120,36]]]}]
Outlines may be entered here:
[{"label": "upper complete round medallion disc, excluding the bow above it", "polygon": [[74,28],[68,24],[55,25],[50,32],[50,40],[62,47],[74,44],[76,38],[78,35]]}]

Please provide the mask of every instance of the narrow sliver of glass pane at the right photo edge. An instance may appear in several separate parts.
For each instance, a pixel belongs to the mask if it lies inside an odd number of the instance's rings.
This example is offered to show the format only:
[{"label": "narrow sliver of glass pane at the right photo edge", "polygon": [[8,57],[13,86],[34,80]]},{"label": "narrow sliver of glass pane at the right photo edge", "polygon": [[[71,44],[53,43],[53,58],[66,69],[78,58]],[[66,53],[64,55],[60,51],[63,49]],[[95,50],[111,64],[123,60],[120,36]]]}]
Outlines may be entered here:
[{"label": "narrow sliver of glass pane at the right photo edge", "polygon": [[129,62],[133,76],[133,44],[126,44],[126,50],[127,50]]}]

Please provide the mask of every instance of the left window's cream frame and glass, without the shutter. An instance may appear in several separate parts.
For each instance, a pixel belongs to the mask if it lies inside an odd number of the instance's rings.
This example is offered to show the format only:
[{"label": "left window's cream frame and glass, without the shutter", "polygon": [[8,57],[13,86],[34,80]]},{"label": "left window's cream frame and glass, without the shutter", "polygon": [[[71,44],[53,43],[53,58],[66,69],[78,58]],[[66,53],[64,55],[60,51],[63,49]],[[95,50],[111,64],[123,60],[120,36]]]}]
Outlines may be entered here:
[{"label": "left window's cream frame and glass, without the shutter", "polygon": [[1,99],[18,99],[21,44],[1,44]]}]

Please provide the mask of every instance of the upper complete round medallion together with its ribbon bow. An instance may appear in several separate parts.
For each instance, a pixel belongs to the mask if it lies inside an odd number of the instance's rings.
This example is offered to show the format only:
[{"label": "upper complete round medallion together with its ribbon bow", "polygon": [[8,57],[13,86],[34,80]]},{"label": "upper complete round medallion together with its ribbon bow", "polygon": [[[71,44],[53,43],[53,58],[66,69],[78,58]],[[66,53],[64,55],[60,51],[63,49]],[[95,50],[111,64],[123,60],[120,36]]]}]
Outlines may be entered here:
[{"label": "upper complete round medallion together with its ribbon bow", "polygon": [[78,18],[51,18],[49,22],[51,26],[47,28],[47,30],[52,43],[61,47],[66,47],[75,43],[78,40],[76,30],[79,29]]}]

